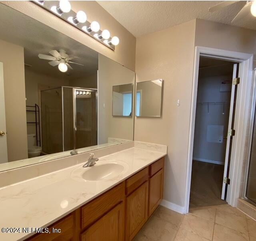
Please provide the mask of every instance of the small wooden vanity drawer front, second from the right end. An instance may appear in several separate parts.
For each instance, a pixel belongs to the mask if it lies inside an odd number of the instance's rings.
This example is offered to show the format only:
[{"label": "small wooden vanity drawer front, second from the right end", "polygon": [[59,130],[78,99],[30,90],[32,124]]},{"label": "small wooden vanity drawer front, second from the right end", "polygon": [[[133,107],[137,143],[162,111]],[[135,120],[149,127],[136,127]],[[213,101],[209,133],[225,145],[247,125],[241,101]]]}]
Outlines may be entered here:
[{"label": "small wooden vanity drawer front, second from the right end", "polygon": [[126,180],[126,195],[132,193],[148,180],[148,166]]}]

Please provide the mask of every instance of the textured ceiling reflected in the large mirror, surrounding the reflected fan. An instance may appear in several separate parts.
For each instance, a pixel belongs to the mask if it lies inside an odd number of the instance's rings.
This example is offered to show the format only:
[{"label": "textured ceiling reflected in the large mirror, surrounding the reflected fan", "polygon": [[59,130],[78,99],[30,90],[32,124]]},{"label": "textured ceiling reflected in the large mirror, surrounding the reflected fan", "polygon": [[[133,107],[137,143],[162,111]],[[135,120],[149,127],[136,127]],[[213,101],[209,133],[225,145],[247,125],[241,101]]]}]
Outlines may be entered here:
[{"label": "textured ceiling reflected in the large mirror, surrounding the reflected fan", "polygon": [[[52,77],[73,80],[95,74],[98,70],[98,53],[64,34],[0,4],[0,39],[24,47],[24,61],[32,65],[31,70]],[[79,58],[70,64],[73,70],[62,73],[58,66],[52,67],[48,60],[39,59],[38,54],[49,54],[50,50],[64,49],[71,56]]]}]

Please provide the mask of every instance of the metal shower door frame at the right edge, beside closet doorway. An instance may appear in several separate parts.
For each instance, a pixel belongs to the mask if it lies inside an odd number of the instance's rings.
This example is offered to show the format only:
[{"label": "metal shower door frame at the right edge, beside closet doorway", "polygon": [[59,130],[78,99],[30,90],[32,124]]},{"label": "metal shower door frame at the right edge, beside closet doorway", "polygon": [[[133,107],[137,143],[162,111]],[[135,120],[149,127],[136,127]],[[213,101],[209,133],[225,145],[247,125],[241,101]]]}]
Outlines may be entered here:
[{"label": "metal shower door frame at the right edge, beside closet doorway", "polygon": [[256,115],[256,69],[254,69],[254,78],[253,78],[253,93],[252,93],[252,111],[250,114],[250,129],[249,129],[249,148],[248,148],[248,157],[247,157],[247,163],[246,163],[246,172],[245,172],[245,180],[244,180],[244,195],[243,198],[248,201],[249,203],[252,203],[253,205],[256,205],[256,203],[252,200],[250,200],[248,197],[246,197],[247,187],[248,187],[248,176],[249,176],[249,169],[250,169],[250,158],[251,158],[251,151],[252,151],[252,136],[253,131],[256,131],[256,126],[254,125],[255,115]]}]

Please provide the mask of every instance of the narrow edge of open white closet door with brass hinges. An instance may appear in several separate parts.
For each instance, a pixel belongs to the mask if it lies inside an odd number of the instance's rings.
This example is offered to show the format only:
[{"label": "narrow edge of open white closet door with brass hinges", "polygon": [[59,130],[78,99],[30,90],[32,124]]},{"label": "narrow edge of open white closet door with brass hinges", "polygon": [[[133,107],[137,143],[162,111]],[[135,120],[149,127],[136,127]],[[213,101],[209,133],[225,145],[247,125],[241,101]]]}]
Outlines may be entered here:
[{"label": "narrow edge of open white closet door with brass hinges", "polygon": [[[233,67],[233,80],[238,77],[238,66],[239,64],[234,64]],[[229,111],[229,120],[228,120],[228,133],[227,136],[227,145],[226,145],[226,156],[225,156],[225,166],[224,166],[224,175],[223,175],[223,184],[222,184],[222,194],[221,199],[226,199],[226,192],[228,188],[228,184],[225,182],[225,179],[228,178],[229,174],[229,164],[230,164],[230,155],[231,155],[231,148],[232,148],[232,134],[229,132],[234,128],[234,115],[235,115],[235,108],[236,108],[236,92],[237,92],[238,85],[234,85],[232,83],[232,91],[231,91],[231,98],[230,98],[230,111]]]}]

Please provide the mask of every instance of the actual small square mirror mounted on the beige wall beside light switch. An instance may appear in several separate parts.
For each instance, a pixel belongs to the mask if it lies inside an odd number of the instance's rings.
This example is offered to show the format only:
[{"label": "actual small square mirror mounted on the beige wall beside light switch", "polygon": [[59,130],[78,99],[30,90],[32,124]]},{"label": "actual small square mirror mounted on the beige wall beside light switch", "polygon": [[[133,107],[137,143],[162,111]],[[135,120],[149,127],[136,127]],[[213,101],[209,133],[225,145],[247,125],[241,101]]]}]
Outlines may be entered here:
[{"label": "actual small square mirror mounted on the beige wall beside light switch", "polygon": [[136,117],[161,117],[162,79],[136,83]]}]

